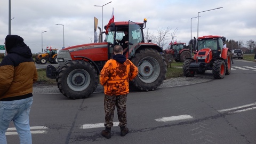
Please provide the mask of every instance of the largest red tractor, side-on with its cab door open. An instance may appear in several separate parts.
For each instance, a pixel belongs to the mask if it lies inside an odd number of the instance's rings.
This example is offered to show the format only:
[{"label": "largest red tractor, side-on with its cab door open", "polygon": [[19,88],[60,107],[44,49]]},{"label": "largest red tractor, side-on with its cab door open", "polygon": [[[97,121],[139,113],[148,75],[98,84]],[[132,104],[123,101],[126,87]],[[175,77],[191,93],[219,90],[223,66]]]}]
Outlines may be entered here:
[{"label": "largest red tractor, side-on with its cab door open", "polygon": [[68,98],[89,97],[98,86],[101,69],[114,55],[113,47],[119,45],[116,39],[121,39],[124,31],[128,31],[129,45],[124,47],[123,54],[139,69],[130,84],[141,91],[154,91],[163,83],[167,68],[161,47],[144,40],[146,22],[146,19],[144,23],[113,22],[104,42],[61,49],[57,58],[59,67],[47,66],[46,76],[56,79],[60,92]]}]

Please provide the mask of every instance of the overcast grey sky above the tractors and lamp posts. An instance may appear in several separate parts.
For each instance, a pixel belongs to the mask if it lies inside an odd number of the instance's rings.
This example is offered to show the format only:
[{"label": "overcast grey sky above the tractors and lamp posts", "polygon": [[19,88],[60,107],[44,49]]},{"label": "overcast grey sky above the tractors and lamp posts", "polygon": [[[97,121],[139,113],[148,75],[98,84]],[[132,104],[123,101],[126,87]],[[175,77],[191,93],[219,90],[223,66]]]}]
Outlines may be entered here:
[{"label": "overcast grey sky above the tractors and lamp posts", "polygon": [[[103,6],[103,26],[108,23],[114,7],[115,21],[143,22],[143,18],[149,18],[146,29],[150,33],[156,35],[157,29],[167,27],[173,32],[178,28],[175,39],[188,43],[190,30],[192,37],[197,37],[197,18],[194,17],[201,12],[199,36],[220,35],[226,39],[242,40],[244,44],[250,39],[256,41],[255,0],[11,0],[11,19],[14,18],[11,20],[11,34],[23,37],[32,53],[42,51],[42,35],[43,49],[46,46],[63,47],[63,26],[55,23],[64,25],[65,47],[91,43],[93,18],[99,19],[100,27],[102,22],[102,7],[94,5],[104,4],[107,5]],[[9,34],[9,0],[1,0],[0,6],[0,45],[4,45]],[[218,7],[223,8],[207,11]]]}]

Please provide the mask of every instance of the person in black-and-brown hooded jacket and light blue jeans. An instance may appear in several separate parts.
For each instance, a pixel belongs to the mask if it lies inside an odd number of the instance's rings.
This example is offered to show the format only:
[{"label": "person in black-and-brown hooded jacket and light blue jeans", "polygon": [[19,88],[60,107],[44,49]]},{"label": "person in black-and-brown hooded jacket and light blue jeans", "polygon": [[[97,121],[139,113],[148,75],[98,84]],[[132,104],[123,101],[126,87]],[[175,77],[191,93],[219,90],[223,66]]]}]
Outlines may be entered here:
[{"label": "person in black-and-brown hooded jacket and light blue jeans", "polygon": [[37,70],[29,47],[18,35],[5,38],[7,55],[0,63],[0,143],[7,143],[5,132],[13,121],[20,143],[32,143],[29,112],[33,103],[33,83]]}]

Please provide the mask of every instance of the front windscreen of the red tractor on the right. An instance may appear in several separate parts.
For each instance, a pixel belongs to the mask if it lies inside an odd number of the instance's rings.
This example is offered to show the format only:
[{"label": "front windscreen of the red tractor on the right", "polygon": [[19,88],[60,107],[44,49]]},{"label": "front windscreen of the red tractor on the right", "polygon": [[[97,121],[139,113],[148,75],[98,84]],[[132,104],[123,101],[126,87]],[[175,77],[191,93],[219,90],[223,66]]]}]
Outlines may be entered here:
[{"label": "front windscreen of the red tractor on the right", "polygon": [[198,50],[211,49],[218,50],[217,39],[202,39],[198,41]]}]

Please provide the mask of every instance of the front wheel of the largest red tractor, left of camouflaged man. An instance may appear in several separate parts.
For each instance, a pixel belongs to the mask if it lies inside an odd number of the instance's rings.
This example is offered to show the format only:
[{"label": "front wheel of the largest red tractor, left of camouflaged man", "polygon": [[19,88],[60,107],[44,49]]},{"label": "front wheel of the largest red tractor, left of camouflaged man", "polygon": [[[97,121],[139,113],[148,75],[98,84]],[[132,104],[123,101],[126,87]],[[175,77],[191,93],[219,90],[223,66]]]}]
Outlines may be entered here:
[{"label": "front wheel of the largest red tractor, left of camouflaged man", "polygon": [[89,97],[99,83],[95,68],[87,61],[72,60],[60,68],[57,84],[60,92],[70,99]]}]

